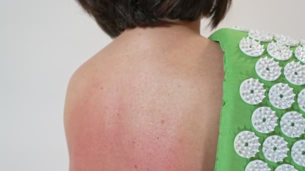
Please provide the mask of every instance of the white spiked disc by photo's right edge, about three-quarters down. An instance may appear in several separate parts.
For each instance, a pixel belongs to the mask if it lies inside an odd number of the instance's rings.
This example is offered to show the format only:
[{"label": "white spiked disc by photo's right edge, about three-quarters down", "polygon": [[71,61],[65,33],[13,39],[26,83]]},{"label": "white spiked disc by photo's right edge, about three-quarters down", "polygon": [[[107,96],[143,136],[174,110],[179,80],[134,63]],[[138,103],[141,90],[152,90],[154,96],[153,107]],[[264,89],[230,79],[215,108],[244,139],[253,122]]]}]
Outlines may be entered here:
[{"label": "white spiked disc by photo's right edge, about three-quarters down", "polygon": [[305,118],[296,111],[286,112],[280,119],[280,129],[289,137],[299,137],[305,133]]}]

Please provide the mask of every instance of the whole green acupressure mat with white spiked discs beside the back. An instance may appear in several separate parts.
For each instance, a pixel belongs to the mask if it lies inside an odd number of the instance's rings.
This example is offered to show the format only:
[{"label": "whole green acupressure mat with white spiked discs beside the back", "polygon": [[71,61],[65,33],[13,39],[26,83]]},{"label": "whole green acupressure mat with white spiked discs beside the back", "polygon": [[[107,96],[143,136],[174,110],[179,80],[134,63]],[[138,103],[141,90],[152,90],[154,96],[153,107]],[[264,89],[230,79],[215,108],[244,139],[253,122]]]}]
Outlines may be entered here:
[{"label": "whole green acupressure mat with white spiked discs beside the back", "polygon": [[305,170],[305,40],[239,27],[224,51],[216,171]]}]

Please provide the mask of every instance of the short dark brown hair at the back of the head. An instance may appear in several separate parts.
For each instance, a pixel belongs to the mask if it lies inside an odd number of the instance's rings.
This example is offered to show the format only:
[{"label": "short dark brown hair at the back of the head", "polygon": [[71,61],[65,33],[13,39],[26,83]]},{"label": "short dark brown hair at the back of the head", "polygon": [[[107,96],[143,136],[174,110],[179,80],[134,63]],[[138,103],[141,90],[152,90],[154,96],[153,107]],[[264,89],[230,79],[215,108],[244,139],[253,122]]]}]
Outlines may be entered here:
[{"label": "short dark brown hair at the back of the head", "polygon": [[194,21],[211,18],[215,28],[224,18],[232,0],[77,0],[110,37],[126,28],[154,26],[163,18]]}]

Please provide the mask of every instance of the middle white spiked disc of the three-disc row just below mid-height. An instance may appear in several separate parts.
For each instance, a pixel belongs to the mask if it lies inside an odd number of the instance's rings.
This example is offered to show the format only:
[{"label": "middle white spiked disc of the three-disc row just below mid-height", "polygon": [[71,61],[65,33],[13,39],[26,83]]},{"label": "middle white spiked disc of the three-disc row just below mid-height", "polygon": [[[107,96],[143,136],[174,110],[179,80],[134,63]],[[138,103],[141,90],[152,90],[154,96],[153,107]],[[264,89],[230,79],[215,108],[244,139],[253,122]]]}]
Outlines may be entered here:
[{"label": "middle white spiked disc of the three-disc row just below mid-height", "polygon": [[274,84],[269,90],[269,100],[271,104],[279,109],[285,109],[291,107],[291,104],[294,102],[295,94],[291,88],[286,83],[277,83]]}]

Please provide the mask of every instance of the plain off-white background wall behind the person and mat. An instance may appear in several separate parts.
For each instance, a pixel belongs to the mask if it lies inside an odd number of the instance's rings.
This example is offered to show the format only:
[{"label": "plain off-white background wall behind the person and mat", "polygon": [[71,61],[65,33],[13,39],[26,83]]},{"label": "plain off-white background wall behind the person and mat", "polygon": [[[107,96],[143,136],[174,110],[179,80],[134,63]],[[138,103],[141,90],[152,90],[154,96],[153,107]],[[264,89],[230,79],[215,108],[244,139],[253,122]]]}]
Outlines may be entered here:
[{"label": "plain off-white background wall behind the person and mat", "polygon": [[[233,0],[219,27],[305,37],[304,6],[304,0]],[[111,39],[74,0],[1,0],[0,19],[0,170],[68,170],[67,83]]]}]

